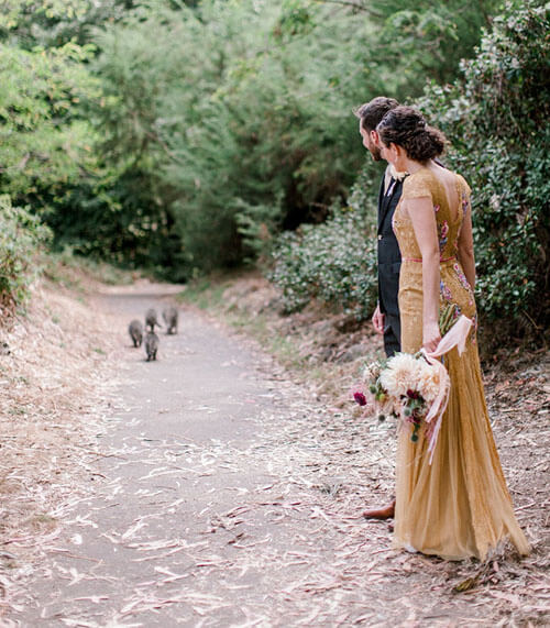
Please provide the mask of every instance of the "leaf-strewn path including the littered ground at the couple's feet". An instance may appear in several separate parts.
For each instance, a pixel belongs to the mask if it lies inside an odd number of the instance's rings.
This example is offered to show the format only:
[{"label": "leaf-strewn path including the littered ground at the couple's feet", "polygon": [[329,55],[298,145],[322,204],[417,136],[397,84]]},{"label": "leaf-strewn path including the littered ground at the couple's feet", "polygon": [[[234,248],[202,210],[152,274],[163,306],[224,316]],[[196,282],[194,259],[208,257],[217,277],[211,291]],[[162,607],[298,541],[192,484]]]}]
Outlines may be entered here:
[{"label": "leaf-strewn path including the littered ground at the couple's feet", "polygon": [[[169,300],[122,290],[97,307],[129,344],[128,321]],[[392,426],[310,403],[270,357],[190,310],[161,335],[157,362],[128,346],[119,366],[82,496],[54,514],[61,535],[7,626],[544,621],[540,557],[480,566],[405,554],[386,524],[358,517],[391,494]]]}]

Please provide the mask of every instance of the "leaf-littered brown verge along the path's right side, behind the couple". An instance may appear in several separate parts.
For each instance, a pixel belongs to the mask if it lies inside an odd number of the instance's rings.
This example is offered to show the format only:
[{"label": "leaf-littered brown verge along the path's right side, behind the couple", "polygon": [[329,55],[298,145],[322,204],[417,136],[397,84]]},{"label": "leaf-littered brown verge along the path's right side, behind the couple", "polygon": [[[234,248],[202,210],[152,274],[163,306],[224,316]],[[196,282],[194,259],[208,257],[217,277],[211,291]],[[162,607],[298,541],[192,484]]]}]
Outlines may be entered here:
[{"label": "leaf-littered brown verge along the path's right side, behind the couple", "polygon": [[[340,483],[328,478],[318,488],[336,492],[337,502],[343,503],[356,499],[358,492],[364,492],[367,484],[370,489],[365,497],[372,500],[373,495],[377,496],[377,503],[384,504],[393,492],[393,429],[388,426],[389,431],[381,430],[375,425],[376,419],[362,416],[350,395],[364,363],[383,352],[381,340],[373,335],[371,326],[322,310],[315,304],[301,313],[282,317],[277,313],[276,291],[257,275],[230,279],[222,288],[211,288],[213,297],[209,311],[215,311],[219,320],[239,332],[246,332],[249,338],[260,341],[263,349],[272,351],[287,370],[286,377],[289,370],[294,379],[331,415],[322,425],[312,423],[307,417],[302,430],[296,425],[301,438],[309,434],[323,442],[317,467],[330,467],[330,475]],[[207,296],[202,295],[201,300],[208,302]],[[407,568],[410,571],[411,563],[417,561],[417,566],[421,563],[425,575],[431,573],[431,591],[447,588],[455,593],[459,606],[461,596],[471,597],[487,625],[548,625],[550,353],[542,348],[513,353],[503,348],[498,359],[486,365],[484,376],[508,488],[520,525],[532,546],[532,554],[518,561],[514,552],[506,551],[485,564],[475,561],[453,564],[418,557],[407,559],[398,570]],[[371,421],[372,430],[370,441],[373,447],[369,450],[354,441],[354,434],[358,429],[363,429],[365,420]],[[287,437],[285,434],[283,440],[292,441]],[[310,460],[306,466],[311,464]],[[366,482],[365,475],[369,476]],[[386,575],[394,568],[388,565]],[[396,585],[403,575],[395,572]],[[457,617],[460,617],[459,613]]]}]

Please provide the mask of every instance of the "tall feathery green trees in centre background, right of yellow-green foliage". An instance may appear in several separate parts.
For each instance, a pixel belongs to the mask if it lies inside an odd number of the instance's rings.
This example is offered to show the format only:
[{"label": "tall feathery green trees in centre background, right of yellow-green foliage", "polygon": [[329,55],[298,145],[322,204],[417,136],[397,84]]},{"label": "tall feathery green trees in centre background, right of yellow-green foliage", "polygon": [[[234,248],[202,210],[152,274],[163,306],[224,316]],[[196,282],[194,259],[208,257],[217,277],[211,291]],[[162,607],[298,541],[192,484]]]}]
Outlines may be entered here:
[{"label": "tall feathery green trees in centre background, right of yellow-green foliage", "polygon": [[[364,159],[352,107],[453,77],[497,3],[134,3],[94,35],[96,150],[124,173],[114,218],[162,224],[151,256],[168,233],[180,255],[163,264],[184,276],[263,258],[282,229],[324,221],[348,196]],[[88,207],[111,224],[111,206]],[[106,244],[140,260],[145,243]]]}]

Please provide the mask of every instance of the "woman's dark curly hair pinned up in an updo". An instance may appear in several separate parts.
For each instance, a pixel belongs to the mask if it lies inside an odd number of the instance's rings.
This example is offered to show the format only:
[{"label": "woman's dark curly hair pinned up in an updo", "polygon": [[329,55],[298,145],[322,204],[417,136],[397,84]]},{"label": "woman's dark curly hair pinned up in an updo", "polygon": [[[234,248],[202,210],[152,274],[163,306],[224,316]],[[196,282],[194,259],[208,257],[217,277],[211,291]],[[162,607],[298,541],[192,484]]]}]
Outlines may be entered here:
[{"label": "woman's dark curly hair pinned up in an updo", "polygon": [[388,111],[376,126],[380,139],[389,146],[403,146],[415,162],[425,163],[444,150],[446,136],[428,126],[422,114],[413,107],[396,107]]}]

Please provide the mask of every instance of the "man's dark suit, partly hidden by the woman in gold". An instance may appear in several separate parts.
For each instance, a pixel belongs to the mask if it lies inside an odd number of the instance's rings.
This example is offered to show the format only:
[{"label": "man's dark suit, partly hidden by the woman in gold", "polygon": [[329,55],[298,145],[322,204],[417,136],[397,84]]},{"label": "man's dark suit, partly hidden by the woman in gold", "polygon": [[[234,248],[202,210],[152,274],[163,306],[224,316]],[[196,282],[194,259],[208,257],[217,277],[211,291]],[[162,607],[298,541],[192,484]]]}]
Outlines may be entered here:
[{"label": "man's dark suit, partly hidden by the woman in gold", "polygon": [[402,254],[392,229],[392,219],[403,191],[403,180],[386,170],[378,194],[378,305],[384,315],[384,349],[386,355],[400,351],[399,269]]}]

